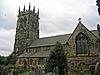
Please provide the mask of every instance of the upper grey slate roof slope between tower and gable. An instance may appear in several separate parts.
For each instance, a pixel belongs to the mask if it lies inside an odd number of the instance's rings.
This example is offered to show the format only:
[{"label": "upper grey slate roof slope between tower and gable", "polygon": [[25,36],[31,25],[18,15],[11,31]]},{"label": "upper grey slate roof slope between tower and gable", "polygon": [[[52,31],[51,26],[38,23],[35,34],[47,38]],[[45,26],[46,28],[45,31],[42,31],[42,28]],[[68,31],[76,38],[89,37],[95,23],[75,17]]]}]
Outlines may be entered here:
[{"label": "upper grey slate roof slope between tower and gable", "polygon": [[71,34],[65,34],[65,35],[39,38],[33,41],[30,47],[51,46],[51,45],[56,44],[57,41],[61,42],[61,44],[66,44],[70,35]]}]

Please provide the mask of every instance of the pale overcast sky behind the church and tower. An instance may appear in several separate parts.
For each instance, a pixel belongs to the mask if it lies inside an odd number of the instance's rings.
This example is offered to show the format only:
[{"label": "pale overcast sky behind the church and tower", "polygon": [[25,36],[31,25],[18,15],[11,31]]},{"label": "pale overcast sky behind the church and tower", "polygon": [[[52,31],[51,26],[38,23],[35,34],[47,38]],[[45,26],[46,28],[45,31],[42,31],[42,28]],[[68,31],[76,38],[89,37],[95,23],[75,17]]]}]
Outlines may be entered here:
[{"label": "pale overcast sky behind the church and tower", "polygon": [[0,0],[0,55],[13,51],[18,9],[29,2],[40,9],[40,37],[72,33],[78,18],[90,30],[100,23],[96,0]]}]

